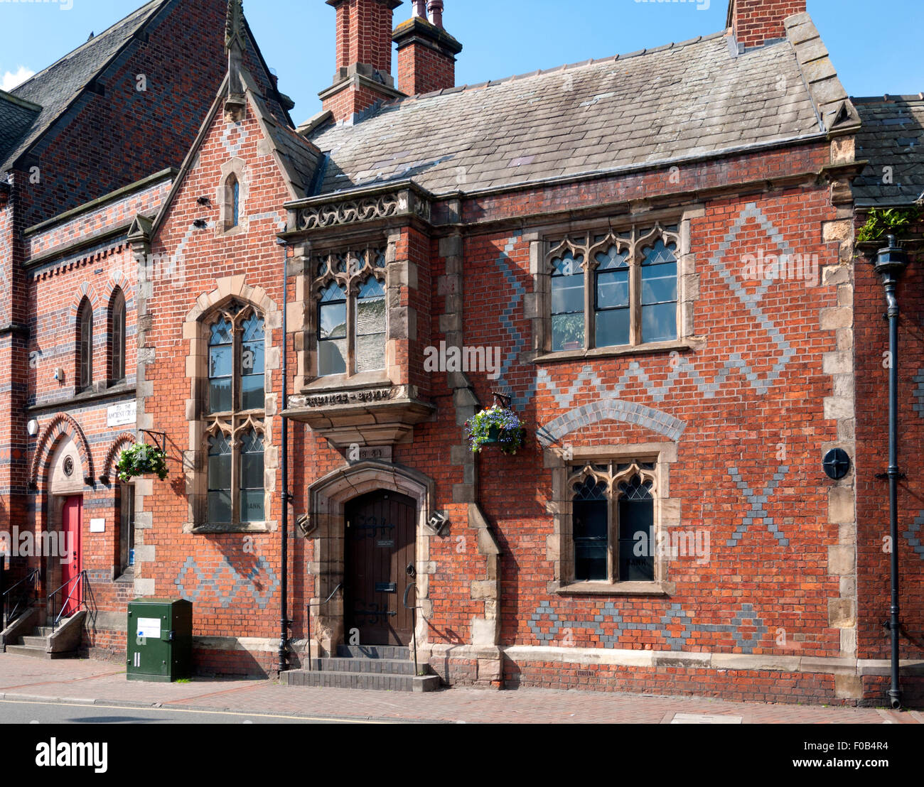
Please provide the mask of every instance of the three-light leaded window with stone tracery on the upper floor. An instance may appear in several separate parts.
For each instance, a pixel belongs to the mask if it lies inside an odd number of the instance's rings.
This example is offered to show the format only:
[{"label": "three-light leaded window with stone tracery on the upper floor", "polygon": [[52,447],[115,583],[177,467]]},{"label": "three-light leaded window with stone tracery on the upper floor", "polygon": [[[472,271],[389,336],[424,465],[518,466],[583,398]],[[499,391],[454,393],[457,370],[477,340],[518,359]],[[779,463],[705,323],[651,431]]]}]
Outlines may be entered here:
[{"label": "three-light leaded window with stone tracery on the upper floor", "polygon": [[674,224],[553,241],[546,258],[547,349],[590,350],[677,339],[678,242]]}]

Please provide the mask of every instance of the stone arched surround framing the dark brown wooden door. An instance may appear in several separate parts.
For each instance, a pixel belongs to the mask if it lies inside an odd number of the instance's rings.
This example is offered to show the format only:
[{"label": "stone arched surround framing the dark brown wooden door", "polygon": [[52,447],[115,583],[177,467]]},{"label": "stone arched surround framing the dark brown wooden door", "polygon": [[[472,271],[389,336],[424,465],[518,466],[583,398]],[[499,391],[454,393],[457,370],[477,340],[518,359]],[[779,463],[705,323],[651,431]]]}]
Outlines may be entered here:
[{"label": "stone arched surround framing the dark brown wooden door", "polygon": [[[313,596],[325,599],[345,579],[344,544],[346,533],[346,503],[367,492],[385,490],[407,495],[417,502],[417,536],[415,539],[415,563],[418,575],[418,601],[423,612],[418,619],[418,644],[427,639],[426,618],[431,604],[429,598],[429,577],[436,571],[436,564],[430,559],[430,539],[436,538],[427,525],[435,509],[436,486],[432,478],[418,470],[402,465],[365,461],[341,467],[319,478],[308,488],[310,515],[305,522],[299,522],[303,535],[313,539],[312,571],[315,577]],[[311,591],[310,591],[311,592]],[[343,594],[337,593],[322,608],[316,608],[318,641],[327,652],[333,652],[337,645],[344,644]]]}]

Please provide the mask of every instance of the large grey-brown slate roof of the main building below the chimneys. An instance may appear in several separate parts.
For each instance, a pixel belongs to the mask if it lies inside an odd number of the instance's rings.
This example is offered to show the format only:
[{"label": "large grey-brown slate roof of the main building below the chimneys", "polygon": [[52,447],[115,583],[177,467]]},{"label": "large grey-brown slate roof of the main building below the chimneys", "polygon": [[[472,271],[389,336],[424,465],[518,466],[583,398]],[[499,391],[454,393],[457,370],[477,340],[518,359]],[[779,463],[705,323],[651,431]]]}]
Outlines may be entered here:
[{"label": "large grey-brown slate roof of the main building below the chimneys", "polygon": [[[826,53],[825,53],[826,54]],[[820,133],[793,46],[723,33],[386,103],[310,139],[316,193],[412,177],[436,194],[667,163]]]}]

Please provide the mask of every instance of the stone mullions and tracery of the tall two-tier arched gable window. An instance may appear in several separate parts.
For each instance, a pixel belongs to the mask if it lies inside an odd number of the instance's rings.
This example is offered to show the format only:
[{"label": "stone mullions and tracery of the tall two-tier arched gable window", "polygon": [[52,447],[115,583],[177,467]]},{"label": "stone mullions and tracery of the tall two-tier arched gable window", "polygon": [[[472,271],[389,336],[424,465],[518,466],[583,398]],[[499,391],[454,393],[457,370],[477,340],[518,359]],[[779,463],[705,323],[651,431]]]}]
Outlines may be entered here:
[{"label": "stone mullions and tracery of the tall two-tier arched gable window", "polygon": [[[263,378],[263,404],[261,407],[243,407],[242,394],[243,394],[243,382],[244,377],[248,376],[244,374],[244,369],[242,367],[243,363],[243,354],[244,354],[244,323],[248,321],[250,315],[256,315],[259,320],[262,321],[262,378]],[[230,396],[230,409],[222,410],[213,410],[212,408],[212,381],[217,379],[225,379],[225,375],[213,376],[211,374],[211,356],[212,348],[214,346],[225,346],[222,345],[213,345],[212,338],[212,326],[220,320],[227,320],[231,323],[231,396]],[[205,500],[204,500],[204,521],[206,523],[205,527],[222,527],[229,529],[237,528],[248,528],[248,527],[261,527],[266,521],[267,509],[266,509],[266,446],[267,446],[267,427],[266,427],[266,384],[268,380],[267,368],[266,368],[266,346],[267,346],[267,316],[265,312],[254,304],[248,303],[244,300],[233,298],[225,303],[224,306],[212,309],[206,314],[202,319],[202,330],[205,333],[205,365],[206,365],[206,377],[203,385],[202,396],[203,401],[201,402],[201,412],[203,418],[207,422],[207,426],[203,431],[202,437],[202,454],[204,457],[203,461],[203,473],[204,473],[204,488],[205,488]],[[249,520],[241,519],[241,472],[243,467],[243,440],[244,437],[249,433],[249,431],[256,432],[262,441],[263,449],[263,486],[261,487],[263,491],[263,518],[261,520]],[[230,495],[230,518],[227,521],[216,521],[213,520],[210,515],[210,493],[213,491],[224,491],[224,488],[219,490],[218,488],[212,489],[211,487],[211,478],[210,478],[210,446],[211,441],[219,433],[223,434],[225,441],[230,447],[231,454],[231,466],[230,466],[230,489],[227,490]],[[257,488],[252,488],[257,489]]]}]

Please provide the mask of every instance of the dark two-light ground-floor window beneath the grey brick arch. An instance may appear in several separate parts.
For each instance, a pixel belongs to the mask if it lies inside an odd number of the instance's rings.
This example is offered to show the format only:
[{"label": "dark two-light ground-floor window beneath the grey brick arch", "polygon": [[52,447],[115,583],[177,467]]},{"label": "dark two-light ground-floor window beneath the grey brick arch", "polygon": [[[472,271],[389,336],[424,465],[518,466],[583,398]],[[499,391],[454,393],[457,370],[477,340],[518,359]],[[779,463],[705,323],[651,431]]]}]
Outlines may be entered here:
[{"label": "dark two-light ground-floor window beneath the grey brick arch", "polygon": [[648,460],[571,467],[574,581],[654,581],[654,481]]}]

